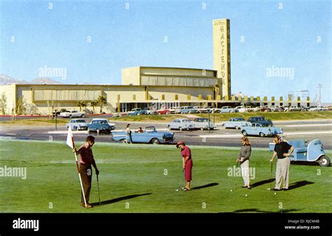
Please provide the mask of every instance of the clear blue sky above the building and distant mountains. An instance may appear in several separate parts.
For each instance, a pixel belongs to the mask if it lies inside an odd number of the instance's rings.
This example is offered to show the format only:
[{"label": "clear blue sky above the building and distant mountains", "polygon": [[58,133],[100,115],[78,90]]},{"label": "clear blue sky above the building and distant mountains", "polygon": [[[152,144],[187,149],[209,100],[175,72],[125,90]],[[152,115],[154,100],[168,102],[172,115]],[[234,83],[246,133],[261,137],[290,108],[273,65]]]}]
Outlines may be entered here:
[{"label": "clear blue sky above the building and distant mountains", "polygon": [[[232,93],[314,98],[323,84],[332,101],[331,1],[0,2],[0,74],[15,79],[45,66],[66,68],[51,77],[66,84],[121,84],[137,65],[213,69],[212,20],[228,18]],[[268,77],[272,67],[293,78]]]}]

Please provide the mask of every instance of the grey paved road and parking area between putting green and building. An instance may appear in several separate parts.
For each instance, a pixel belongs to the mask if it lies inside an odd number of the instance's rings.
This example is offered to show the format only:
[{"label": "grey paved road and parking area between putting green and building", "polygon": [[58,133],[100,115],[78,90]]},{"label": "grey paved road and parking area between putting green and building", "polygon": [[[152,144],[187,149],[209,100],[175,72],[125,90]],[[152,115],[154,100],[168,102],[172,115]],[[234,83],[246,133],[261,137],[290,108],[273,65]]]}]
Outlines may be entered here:
[{"label": "grey paved road and parking area between putting green and building", "polygon": [[[4,118],[4,117],[1,117]],[[106,118],[106,117],[105,117]],[[23,118],[25,119],[25,118]],[[90,121],[92,118],[87,118]],[[4,119],[2,119],[4,120]],[[125,129],[127,122],[114,122],[116,131]],[[285,121],[274,122],[275,126],[282,127],[286,138],[288,139],[304,139],[313,140],[320,139],[324,143],[326,150],[332,150],[332,119],[325,120],[303,120],[303,121]],[[131,129],[138,129],[146,126],[155,126],[160,131],[167,131],[165,123],[146,123],[131,122]],[[242,134],[239,130],[223,129],[221,124],[217,124],[217,129],[209,133],[209,131],[172,131],[175,133],[176,143],[178,140],[184,140],[188,145],[213,145],[213,146],[231,146],[239,147]],[[57,131],[55,126],[1,126],[0,136],[18,139],[33,140],[66,140],[67,129],[62,125],[58,125]],[[86,131],[78,131],[75,133],[75,139],[83,142],[87,136]],[[268,143],[272,138],[249,137],[253,147],[268,147]],[[110,135],[97,136],[99,142],[114,142]]]}]

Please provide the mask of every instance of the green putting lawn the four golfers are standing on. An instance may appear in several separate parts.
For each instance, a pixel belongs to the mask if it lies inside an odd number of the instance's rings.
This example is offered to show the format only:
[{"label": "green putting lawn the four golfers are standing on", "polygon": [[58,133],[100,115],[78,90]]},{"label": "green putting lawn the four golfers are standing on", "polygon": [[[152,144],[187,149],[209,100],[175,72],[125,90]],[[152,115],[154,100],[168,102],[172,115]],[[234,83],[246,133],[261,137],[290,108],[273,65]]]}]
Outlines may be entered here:
[{"label": "green putting lawn the four golfers are standing on", "polygon": [[[297,184],[275,195],[267,190],[270,183],[259,185],[270,179],[271,153],[263,149],[252,152],[256,178],[251,185],[258,185],[247,190],[240,188],[241,177],[228,176],[237,148],[192,147],[193,190],[176,192],[181,157],[174,146],[96,143],[102,204],[92,209],[79,205],[76,164],[64,143],[1,140],[0,150],[0,167],[27,167],[25,180],[0,177],[2,213],[332,212],[331,167],[292,164],[290,183]],[[95,172],[90,202],[98,202]]]}]

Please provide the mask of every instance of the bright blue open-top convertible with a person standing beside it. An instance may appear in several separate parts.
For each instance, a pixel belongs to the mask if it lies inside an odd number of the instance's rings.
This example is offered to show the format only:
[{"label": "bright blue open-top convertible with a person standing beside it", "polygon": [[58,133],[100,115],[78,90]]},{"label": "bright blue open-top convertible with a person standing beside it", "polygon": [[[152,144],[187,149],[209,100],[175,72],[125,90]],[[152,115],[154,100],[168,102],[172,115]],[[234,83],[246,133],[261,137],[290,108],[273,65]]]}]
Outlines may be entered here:
[{"label": "bright blue open-top convertible with a person standing beside it", "polygon": [[[112,139],[127,143],[127,133],[112,132]],[[170,143],[174,140],[174,133],[160,132],[155,130],[155,126],[148,126],[142,133],[132,132],[132,143]]]}]

